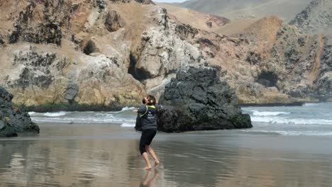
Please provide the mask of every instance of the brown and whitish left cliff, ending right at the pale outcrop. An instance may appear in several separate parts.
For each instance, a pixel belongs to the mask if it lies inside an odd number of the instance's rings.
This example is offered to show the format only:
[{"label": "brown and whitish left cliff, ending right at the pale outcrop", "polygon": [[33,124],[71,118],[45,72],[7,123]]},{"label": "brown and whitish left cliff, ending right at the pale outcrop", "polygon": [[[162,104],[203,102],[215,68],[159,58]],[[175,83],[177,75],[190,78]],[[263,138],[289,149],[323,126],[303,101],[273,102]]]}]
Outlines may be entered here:
[{"label": "brown and whitish left cliff, ending right at the pale outcrop", "polygon": [[1,19],[0,80],[16,103],[133,105],[146,91],[160,94],[181,67],[204,62],[152,1],[20,5],[1,3],[10,16]]}]

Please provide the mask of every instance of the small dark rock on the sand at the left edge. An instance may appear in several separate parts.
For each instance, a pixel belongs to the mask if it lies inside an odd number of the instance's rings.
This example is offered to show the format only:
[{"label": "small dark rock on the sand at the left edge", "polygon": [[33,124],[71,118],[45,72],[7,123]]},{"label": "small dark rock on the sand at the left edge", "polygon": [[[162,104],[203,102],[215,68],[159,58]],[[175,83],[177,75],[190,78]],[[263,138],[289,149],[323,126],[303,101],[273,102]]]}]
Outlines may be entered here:
[{"label": "small dark rock on the sand at the left edge", "polygon": [[0,137],[16,137],[20,132],[39,133],[39,127],[21,108],[12,106],[13,95],[0,86]]}]

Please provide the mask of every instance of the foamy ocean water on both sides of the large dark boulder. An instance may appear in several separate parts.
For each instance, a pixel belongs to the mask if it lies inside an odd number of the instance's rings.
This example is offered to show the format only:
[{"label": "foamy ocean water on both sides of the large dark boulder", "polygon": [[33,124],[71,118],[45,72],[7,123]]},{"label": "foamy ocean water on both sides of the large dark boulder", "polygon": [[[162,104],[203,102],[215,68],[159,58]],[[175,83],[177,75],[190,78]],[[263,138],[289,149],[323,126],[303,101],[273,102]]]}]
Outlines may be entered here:
[{"label": "foamy ocean water on both sides of the large dark boulder", "polygon": [[[306,103],[304,106],[245,107],[254,128],[240,130],[249,134],[332,136],[332,103]],[[118,112],[29,113],[36,123],[116,123],[135,127],[133,108]]]}]

